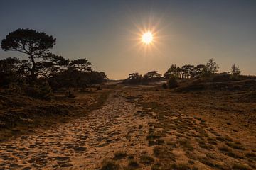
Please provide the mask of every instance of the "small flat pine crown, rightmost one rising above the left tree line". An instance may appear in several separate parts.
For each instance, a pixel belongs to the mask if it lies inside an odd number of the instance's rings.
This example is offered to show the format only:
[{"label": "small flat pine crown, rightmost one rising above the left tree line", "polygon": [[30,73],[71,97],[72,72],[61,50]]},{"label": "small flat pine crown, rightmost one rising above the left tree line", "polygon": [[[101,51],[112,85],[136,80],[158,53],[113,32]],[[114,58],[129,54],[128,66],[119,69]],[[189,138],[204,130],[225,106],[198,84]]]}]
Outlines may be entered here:
[{"label": "small flat pine crown, rightmost one rising above the left tree line", "polygon": [[90,62],[88,62],[87,59],[77,59],[77,60],[72,60],[69,64],[69,67],[71,69],[78,70],[80,72],[90,72],[92,71],[92,68],[90,67],[92,65]]}]

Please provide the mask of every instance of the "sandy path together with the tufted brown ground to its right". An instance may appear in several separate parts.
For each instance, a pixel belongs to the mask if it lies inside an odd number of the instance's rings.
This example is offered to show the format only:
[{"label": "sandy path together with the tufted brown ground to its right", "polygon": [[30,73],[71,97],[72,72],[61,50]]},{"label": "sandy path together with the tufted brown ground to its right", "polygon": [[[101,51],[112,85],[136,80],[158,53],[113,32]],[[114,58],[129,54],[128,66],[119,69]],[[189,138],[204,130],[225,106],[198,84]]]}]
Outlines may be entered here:
[{"label": "sandy path together with the tufted brown ground to its right", "polygon": [[256,169],[254,108],[123,86],[89,115],[0,143],[0,169]]}]

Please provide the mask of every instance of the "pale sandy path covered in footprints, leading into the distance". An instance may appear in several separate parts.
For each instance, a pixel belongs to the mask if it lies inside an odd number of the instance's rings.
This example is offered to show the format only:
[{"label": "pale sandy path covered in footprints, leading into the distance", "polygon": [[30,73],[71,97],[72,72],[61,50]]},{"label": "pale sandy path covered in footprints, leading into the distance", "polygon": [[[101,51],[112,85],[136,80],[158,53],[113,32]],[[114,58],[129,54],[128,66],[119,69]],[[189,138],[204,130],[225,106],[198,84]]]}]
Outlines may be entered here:
[{"label": "pale sandy path covered in footprints, leading into the distance", "polygon": [[149,118],[114,91],[86,117],[0,144],[0,169],[100,169],[102,159],[125,150],[149,150]]}]

